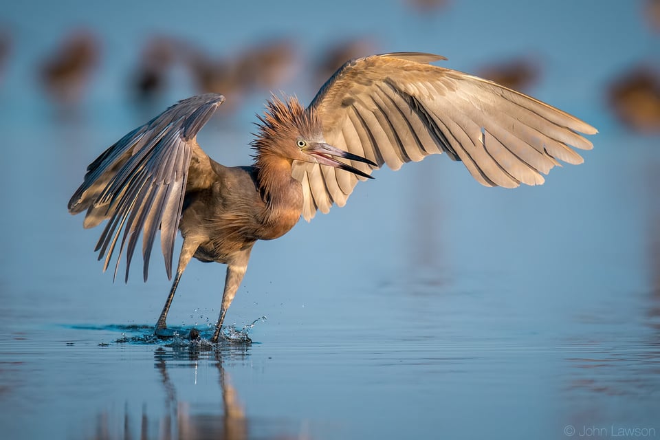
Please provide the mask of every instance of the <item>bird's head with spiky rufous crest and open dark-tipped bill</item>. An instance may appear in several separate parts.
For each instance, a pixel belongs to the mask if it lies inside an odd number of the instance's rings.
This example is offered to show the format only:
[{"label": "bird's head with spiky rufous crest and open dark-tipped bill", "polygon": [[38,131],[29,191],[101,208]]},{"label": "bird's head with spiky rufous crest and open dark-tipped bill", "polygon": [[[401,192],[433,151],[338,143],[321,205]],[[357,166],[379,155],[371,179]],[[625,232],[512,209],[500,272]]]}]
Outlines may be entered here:
[{"label": "bird's head with spiky rufous crest and open dark-tipped bill", "polygon": [[316,115],[306,111],[296,98],[289,98],[286,102],[273,97],[267,104],[264,116],[259,116],[259,134],[252,142],[256,150],[257,160],[276,156],[287,159],[289,162],[311,162],[326,166],[333,166],[350,173],[372,177],[362,170],[342,162],[347,159],[362,162],[376,167],[369,159],[331,146],[325,142],[322,135],[322,125]]}]

